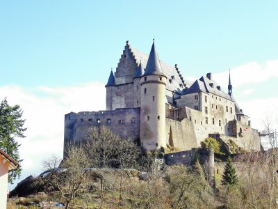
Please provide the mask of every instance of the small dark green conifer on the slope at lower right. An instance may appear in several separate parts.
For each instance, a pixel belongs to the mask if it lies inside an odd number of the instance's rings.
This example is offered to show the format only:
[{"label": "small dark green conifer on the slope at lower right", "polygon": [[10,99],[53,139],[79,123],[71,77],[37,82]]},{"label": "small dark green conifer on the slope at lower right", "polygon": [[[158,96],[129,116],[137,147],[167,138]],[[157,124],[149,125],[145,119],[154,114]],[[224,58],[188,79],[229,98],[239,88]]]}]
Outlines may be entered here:
[{"label": "small dark green conifer on the slope at lower right", "polygon": [[222,185],[236,185],[238,183],[236,169],[234,169],[233,164],[231,163],[231,157],[228,157],[222,178]]}]

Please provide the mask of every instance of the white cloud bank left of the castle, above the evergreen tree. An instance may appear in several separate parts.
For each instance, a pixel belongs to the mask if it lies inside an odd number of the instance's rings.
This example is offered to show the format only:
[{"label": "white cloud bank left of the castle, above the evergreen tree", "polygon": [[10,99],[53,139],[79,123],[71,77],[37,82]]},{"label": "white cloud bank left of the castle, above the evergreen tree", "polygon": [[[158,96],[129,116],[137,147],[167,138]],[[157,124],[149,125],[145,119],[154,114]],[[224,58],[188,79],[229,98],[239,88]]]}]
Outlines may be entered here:
[{"label": "white cloud bank left of the castle, above the evergreen tree", "polygon": [[70,111],[105,109],[104,84],[94,82],[75,86],[0,87],[0,99],[19,104],[26,118],[26,138],[18,139],[22,178],[40,173],[41,162],[51,154],[63,155],[64,115]]}]

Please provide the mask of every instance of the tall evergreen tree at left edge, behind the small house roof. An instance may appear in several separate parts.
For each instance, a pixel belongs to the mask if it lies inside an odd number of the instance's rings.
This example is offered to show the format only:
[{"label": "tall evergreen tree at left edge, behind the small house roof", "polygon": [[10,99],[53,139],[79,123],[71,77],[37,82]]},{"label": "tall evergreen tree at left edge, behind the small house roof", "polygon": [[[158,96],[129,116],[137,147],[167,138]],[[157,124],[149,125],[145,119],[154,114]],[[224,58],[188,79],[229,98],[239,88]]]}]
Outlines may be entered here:
[{"label": "tall evergreen tree at left edge, behind the small house roof", "polygon": [[[13,157],[17,162],[21,162],[18,148],[20,144],[15,140],[16,137],[24,138],[24,122],[22,119],[22,109],[18,104],[10,106],[7,98],[0,104],[0,149]],[[8,181],[13,183],[13,179],[20,176],[22,169],[9,172]]]}]

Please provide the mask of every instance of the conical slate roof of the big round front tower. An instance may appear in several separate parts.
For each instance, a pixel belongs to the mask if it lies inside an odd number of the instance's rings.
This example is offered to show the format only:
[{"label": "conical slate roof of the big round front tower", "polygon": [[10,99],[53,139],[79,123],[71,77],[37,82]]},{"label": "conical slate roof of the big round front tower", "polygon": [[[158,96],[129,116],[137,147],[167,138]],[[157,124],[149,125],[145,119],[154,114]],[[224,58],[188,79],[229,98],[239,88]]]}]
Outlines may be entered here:
[{"label": "conical slate roof of the big round front tower", "polygon": [[151,52],[149,52],[149,59],[147,61],[147,66],[145,68],[144,75],[163,75],[163,76],[165,76],[161,70],[161,62],[158,58],[158,54],[156,52],[156,47],[154,45],[154,42],[152,43]]}]

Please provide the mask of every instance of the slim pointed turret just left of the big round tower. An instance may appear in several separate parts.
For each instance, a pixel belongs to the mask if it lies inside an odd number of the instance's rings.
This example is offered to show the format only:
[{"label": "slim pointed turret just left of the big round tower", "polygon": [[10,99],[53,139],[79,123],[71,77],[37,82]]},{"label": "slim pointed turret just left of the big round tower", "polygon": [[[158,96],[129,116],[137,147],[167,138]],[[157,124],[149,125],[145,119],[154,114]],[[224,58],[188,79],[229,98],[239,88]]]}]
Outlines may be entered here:
[{"label": "slim pointed turret just left of the big round tower", "polygon": [[144,74],[144,69],[142,68],[142,63],[140,61],[139,66],[136,68],[136,73],[133,78],[133,88],[134,88],[134,107],[141,107],[141,84],[140,79]]}]

